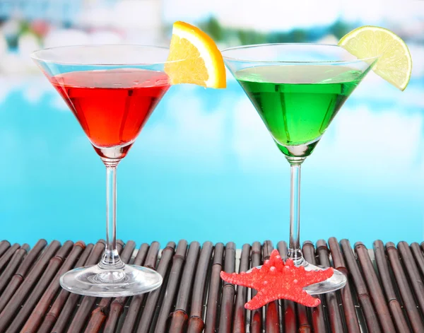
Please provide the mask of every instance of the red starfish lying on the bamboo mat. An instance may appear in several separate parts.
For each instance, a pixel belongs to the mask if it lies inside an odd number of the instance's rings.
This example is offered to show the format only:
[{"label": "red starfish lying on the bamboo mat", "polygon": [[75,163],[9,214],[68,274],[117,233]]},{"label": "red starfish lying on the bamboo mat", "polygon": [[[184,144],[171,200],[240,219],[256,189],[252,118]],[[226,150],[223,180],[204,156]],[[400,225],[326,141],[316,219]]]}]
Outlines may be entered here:
[{"label": "red starfish lying on the bamboo mat", "polygon": [[310,307],[317,306],[321,303],[319,298],[310,296],[303,287],[329,279],[333,274],[332,268],[305,271],[305,267],[295,267],[291,259],[287,259],[284,264],[278,250],[273,250],[269,260],[260,269],[254,268],[249,273],[240,274],[221,271],[220,276],[230,284],[256,289],[257,295],[245,304],[245,308],[254,310],[282,298]]}]

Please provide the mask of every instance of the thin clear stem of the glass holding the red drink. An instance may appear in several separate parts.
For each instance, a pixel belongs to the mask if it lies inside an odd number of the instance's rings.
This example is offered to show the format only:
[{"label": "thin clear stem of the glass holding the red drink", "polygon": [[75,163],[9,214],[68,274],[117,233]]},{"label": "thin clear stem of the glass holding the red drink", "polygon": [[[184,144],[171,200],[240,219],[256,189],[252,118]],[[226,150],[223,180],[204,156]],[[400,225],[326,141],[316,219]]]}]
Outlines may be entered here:
[{"label": "thin clear stem of the glass holding the red drink", "polygon": [[122,269],[117,250],[117,166],[119,161],[102,159],[106,165],[106,248],[99,263],[102,269]]}]

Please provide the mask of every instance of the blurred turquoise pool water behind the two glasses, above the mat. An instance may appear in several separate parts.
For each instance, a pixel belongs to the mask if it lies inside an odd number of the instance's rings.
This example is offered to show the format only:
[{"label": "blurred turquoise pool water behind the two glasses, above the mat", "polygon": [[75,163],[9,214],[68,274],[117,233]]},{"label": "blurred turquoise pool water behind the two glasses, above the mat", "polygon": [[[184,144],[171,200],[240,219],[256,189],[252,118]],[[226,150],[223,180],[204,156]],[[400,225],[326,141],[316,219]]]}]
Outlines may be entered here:
[{"label": "blurred turquoise pool water behind the two glasses, above the mat", "polygon": [[[423,240],[423,90],[355,91],[302,167],[301,240]],[[0,142],[0,238],[104,237],[104,167],[45,78],[0,78]],[[119,165],[118,237],[288,240],[289,178],[235,81],[172,87]]]}]

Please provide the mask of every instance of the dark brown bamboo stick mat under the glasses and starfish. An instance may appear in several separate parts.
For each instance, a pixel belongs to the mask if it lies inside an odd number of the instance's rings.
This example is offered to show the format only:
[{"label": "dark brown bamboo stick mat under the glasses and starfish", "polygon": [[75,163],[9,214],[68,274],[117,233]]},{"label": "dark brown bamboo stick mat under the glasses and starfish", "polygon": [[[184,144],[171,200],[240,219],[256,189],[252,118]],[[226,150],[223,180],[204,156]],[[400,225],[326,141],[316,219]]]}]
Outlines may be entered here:
[{"label": "dark brown bamboo stick mat under the glasses and starfish", "polygon": [[[284,242],[276,245],[281,256]],[[95,264],[105,248],[54,240],[28,244],[0,242],[0,332],[248,333],[248,332],[424,332],[424,243],[376,240],[363,243],[330,238],[305,242],[305,258],[332,265],[348,276],[341,291],[319,296],[305,308],[281,300],[252,312],[249,288],[223,283],[220,271],[246,271],[269,257],[273,244],[157,242],[136,247],[119,241],[124,262],[156,269],[163,286],[149,294],[83,297],[64,291],[59,276],[73,267]]]}]

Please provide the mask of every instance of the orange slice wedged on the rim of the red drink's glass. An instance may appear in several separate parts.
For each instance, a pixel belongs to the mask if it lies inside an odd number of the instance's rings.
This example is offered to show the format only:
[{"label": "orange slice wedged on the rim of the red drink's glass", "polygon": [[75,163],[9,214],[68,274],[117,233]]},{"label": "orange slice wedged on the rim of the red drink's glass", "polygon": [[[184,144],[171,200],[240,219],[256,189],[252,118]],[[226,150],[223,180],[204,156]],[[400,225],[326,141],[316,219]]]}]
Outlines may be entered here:
[{"label": "orange slice wedged on the rim of the red drink's glass", "polygon": [[199,28],[175,22],[165,73],[171,84],[193,83],[206,88],[225,88],[225,65],[212,38]]}]

